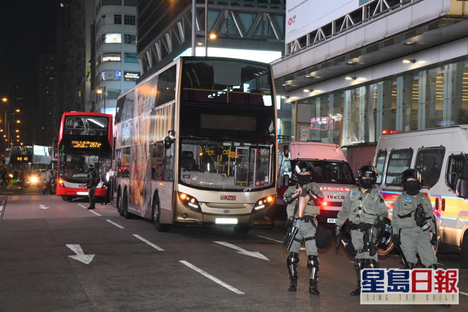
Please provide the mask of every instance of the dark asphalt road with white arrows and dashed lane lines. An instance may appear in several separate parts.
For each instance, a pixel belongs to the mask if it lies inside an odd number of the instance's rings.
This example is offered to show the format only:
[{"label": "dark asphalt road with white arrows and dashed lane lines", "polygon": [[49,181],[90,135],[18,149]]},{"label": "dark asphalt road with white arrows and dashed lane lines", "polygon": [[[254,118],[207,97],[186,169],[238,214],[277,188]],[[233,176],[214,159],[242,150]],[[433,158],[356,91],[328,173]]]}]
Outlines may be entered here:
[{"label": "dark asphalt road with white arrows and dashed lane lines", "polygon": [[[86,210],[86,200],[65,202],[38,189],[0,189],[0,206],[0,311],[426,312],[468,305],[468,270],[460,270],[459,305],[361,306],[349,295],[353,259],[334,242],[319,250],[320,295],[308,292],[305,251],[298,291],[288,292],[281,221],[248,234],[216,227],[158,233],[150,220],[124,219],[112,206]],[[458,260],[439,254],[445,269]],[[401,267],[394,254],[379,261]]]}]

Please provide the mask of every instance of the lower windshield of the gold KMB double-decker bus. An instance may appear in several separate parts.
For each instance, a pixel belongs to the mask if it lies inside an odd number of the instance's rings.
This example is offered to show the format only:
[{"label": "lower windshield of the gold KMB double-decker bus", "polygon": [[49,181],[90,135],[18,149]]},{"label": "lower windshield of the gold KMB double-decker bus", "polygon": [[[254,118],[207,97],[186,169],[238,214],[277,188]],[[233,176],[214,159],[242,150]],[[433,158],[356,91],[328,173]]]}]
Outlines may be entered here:
[{"label": "lower windshield of the gold KMB double-decker bus", "polygon": [[180,182],[199,188],[226,191],[271,187],[274,182],[273,149],[274,144],[248,145],[183,139],[179,164]]}]

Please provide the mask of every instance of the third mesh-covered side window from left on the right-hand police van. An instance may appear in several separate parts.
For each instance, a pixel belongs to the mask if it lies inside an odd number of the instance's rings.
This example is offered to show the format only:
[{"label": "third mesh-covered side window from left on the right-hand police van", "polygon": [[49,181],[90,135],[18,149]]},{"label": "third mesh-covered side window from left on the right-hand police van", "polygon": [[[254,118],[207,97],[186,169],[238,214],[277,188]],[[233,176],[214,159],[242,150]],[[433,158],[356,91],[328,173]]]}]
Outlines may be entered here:
[{"label": "third mesh-covered side window from left on the right-hand police van", "polygon": [[437,183],[444,161],[445,147],[419,149],[414,169],[421,173],[423,187]]}]

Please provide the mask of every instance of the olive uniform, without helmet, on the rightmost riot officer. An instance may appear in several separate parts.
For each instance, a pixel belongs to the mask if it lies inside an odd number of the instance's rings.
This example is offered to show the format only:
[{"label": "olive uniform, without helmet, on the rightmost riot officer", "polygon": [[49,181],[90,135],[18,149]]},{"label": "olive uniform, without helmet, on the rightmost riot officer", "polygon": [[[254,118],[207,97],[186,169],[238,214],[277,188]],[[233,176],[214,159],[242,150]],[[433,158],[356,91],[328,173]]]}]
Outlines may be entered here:
[{"label": "olive uniform, without helmet, on the rightmost riot officer", "polygon": [[[428,217],[426,230],[416,224],[414,215],[418,205],[424,208],[425,215]],[[409,269],[412,269],[418,260],[416,254],[419,254],[424,266],[436,268],[437,257],[430,243],[430,232],[436,235],[434,219],[432,205],[424,194],[409,195],[407,192],[403,192],[396,198],[391,225],[393,234],[400,236],[401,250],[408,262]]]}]

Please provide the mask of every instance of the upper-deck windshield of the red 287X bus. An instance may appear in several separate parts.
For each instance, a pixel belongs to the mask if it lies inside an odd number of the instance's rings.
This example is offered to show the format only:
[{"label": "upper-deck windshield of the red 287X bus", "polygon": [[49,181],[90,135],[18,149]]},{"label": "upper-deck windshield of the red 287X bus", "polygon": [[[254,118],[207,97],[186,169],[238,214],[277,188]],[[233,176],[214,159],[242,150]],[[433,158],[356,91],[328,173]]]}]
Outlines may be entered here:
[{"label": "upper-deck windshield of the red 287X bus", "polygon": [[108,117],[69,115],[65,117],[63,134],[74,136],[107,137],[109,130],[108,128]]}]

